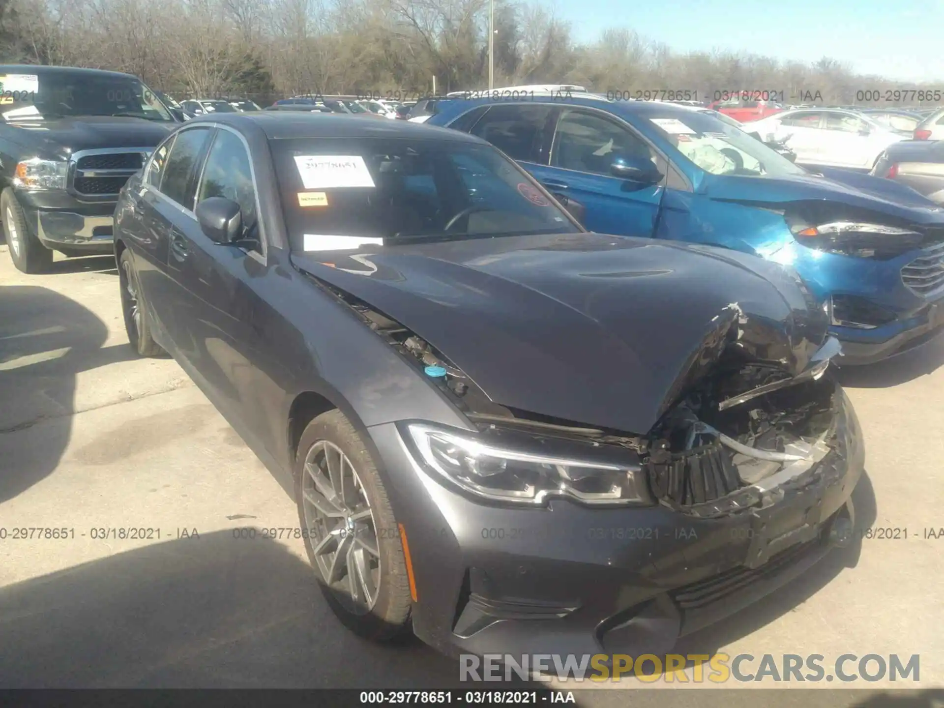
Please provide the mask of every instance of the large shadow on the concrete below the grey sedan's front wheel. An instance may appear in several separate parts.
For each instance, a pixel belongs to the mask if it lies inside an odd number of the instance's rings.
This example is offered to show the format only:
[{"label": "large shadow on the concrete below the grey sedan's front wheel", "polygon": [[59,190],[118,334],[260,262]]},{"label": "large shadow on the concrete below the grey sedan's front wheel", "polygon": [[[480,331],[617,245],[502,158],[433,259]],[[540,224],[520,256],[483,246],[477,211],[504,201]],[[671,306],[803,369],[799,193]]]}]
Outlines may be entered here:
[{"label": "large shadow on the concrete below the grey sedan's front wheel", "polygon": [[458,662],[418,640],[383,646],[347,631],[312,566],[281,544],[189,531],[0,589],[0,646],[17,648],[0,660],[0,685],[468,687]]}]

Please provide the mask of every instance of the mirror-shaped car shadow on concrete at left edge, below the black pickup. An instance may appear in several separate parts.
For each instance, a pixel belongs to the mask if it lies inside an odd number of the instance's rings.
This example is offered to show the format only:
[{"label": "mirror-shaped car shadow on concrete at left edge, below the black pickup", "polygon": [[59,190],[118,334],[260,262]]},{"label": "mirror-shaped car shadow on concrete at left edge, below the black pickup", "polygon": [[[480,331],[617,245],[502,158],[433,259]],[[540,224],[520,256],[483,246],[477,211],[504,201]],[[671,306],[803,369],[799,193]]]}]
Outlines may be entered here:
[{"label": "mirror-shaped car shadow on concrete at left edge, below the black pickup", "polygon": [[77,374],[134,353],[127,345],[103,346],[105,323],[47,288],[0,288],[0,312],[2,503],[59,464],[72,429]]}]

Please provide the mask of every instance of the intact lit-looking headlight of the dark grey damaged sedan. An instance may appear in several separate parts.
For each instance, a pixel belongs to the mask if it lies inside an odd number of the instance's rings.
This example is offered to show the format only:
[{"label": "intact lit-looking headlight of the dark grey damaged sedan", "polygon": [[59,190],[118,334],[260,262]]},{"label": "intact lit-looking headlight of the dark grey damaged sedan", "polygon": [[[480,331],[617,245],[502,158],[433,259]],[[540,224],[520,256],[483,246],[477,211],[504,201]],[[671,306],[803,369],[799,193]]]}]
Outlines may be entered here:
[{"label": "intact lit-looking headlight of the dark grey damaged sedan", "polygon": [[638,466],[494,447],[472,434],[422,424],[407,429],[426,467],[477,497],[530,505],[548,497],[609,506],[651,503]]}]

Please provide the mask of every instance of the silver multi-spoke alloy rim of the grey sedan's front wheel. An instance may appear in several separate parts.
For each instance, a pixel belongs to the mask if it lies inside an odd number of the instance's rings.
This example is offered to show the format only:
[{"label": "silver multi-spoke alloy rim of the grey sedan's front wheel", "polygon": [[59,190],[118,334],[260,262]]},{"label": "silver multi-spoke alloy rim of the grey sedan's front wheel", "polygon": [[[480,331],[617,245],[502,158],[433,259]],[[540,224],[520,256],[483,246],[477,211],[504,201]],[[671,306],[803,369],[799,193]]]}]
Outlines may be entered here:
[{"label": "silver multi-spoke alloy rim of the grey sedan's front wheel", "polygon": [[319,440],[305,458],[302,507],[322,580],[345,609],[366,615],[377,603],[377,526],[361,478],[346,454]]}]

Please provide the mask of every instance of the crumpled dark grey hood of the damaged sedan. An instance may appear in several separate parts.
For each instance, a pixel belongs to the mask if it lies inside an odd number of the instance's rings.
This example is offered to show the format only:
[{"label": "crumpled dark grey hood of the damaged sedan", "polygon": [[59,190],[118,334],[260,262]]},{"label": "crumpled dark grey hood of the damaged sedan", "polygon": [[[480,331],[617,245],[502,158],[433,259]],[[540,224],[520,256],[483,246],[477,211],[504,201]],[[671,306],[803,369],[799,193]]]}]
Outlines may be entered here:
[{"label": "crumpled dark grey hood of the damaged sedan", "polygon": [[782,266],[593,233],[295,253],[435,346],[493,401],[647,433],[722,357],[799,373],[825,314]]}]

